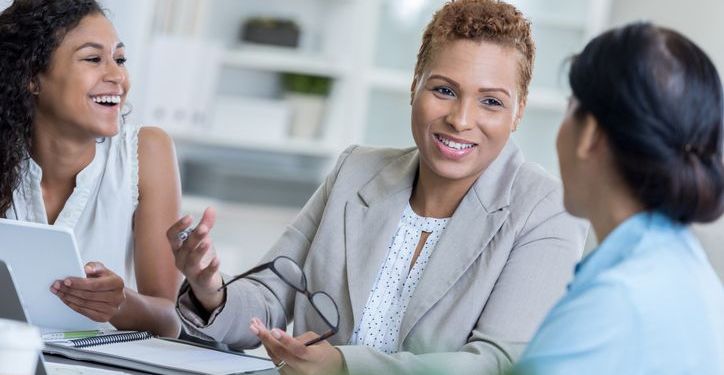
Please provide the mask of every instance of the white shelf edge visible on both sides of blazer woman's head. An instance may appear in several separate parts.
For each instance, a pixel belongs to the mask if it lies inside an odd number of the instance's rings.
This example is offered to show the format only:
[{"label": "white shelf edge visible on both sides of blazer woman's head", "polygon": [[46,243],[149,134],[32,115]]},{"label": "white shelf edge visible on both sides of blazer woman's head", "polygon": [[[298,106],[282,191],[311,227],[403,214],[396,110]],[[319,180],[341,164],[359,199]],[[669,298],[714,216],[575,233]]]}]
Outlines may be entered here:
[{"label": "white shelf edge visible on both sides of blazer woman's head", "polygon": [[[368,77],[370,87],[397,92],[410,93],[412,73],[395,69],[377,68]],[[567,94],[561,90],[531,87],[528,93],[528,107],[547,111],[565,111]]]}]

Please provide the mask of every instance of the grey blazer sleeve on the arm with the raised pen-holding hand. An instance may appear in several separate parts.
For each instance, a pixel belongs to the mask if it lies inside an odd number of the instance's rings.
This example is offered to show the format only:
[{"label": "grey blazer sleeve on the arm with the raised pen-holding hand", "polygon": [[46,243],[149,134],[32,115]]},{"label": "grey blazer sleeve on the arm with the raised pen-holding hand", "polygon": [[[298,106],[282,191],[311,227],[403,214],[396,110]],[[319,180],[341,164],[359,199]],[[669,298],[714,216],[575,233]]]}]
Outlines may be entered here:
[{"label": "grey blazer sleeve on the arm with the raised pen-holding hand", "polygon": [[[356,146],[345,150],[332,172],[304,205],[294,221],[286,228],[262,262],[279,255],[304,264],[312,239],[317,233],[330,191],[346,158]],[[261,319],[267,327],[286,328],[292,319],[295,292],[276,275],[266,271],[231,284],[226,300],[211,314],[194,302],[188,284],[184,282],[176,302],[176,310],[186,331],[207,340],[220,341],[234,349],[248,349],[260,344],[249,330],[252,318]]]}]

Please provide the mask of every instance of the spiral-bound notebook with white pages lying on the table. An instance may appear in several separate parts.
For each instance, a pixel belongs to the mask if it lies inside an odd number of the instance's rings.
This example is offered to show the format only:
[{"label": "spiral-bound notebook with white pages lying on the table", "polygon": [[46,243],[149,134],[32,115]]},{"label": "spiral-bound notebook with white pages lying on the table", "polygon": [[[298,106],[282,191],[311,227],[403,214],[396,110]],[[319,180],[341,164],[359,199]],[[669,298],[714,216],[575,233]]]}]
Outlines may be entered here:
[{"label": "spiral-bound notebook with white pages lying on the table", "polygon": [[47,342],[43,352],[160,375],[241,374],[274,367],[267,359],[188,341],[154,337],[148,332],[124,332]]}]

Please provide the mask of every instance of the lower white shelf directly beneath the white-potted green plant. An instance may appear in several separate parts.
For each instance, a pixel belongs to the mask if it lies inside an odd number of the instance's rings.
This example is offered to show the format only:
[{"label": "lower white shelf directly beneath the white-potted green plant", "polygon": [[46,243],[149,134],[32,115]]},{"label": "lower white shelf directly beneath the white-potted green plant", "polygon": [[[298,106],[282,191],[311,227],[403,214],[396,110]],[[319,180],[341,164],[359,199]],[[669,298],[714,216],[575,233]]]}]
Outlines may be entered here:
[{"label": "lower white shelf directly beneath the white-potted green plant", "polygon": [[331,157],[336,149],[319,140],[280,139],[278,141],[242,140],[224,137],[220,134],[201,132],[171,131],[169,134],[179,143],[193,143],[211,147],[267,151],[281,154]]}]

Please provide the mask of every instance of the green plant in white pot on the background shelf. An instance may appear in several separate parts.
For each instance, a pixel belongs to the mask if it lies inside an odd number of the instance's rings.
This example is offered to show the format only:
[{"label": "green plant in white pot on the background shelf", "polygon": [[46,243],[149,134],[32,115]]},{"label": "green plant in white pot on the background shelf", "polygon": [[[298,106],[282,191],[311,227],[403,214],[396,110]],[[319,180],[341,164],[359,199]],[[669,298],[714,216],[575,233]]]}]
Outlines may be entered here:
[{"label": "green plant in white pot on the background shelf", "polygon": [[292,111],[290,135],[303,139],[317,137],[332,80],[329,77],[284,73],[282,84],[284,98]]}]

